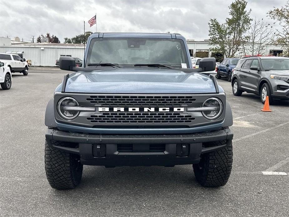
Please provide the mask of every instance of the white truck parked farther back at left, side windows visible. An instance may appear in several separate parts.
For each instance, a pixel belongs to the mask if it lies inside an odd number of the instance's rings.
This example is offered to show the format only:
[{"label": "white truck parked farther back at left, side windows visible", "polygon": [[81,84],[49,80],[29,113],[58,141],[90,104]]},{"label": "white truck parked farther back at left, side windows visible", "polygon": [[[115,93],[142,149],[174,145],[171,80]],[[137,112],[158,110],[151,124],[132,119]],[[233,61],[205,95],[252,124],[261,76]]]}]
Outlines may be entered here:
[{"label": "white truck parked farther back at left, side windows visible", "polygon": [[25,59],[21,59],[17,54],[0,53],[0,61],[10,68],[11,72],[20,72],[28,75],[28,64]]}]

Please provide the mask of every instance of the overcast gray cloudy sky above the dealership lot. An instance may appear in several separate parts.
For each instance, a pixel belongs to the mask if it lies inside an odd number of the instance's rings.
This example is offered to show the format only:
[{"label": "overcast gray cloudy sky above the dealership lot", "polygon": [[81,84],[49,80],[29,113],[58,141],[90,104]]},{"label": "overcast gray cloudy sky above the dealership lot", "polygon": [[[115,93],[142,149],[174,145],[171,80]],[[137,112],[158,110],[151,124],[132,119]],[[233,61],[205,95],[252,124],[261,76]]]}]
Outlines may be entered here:
[{"label": "overcast gray cloudy sky above the dealership lot", "polygon": [[[101,1],[101,0],[0,0],[0,36],[30,41],[47,32],[61,42],[86,31],[95,32],[87,21],[97,14],[100,32],[181,33],[187,39],[208,39],[208,21],[223,23],[229,12],[228,0],[191,1]],[[251,17],[273,21],[266,13],[285,5],[286,0],[248,0]]]}]

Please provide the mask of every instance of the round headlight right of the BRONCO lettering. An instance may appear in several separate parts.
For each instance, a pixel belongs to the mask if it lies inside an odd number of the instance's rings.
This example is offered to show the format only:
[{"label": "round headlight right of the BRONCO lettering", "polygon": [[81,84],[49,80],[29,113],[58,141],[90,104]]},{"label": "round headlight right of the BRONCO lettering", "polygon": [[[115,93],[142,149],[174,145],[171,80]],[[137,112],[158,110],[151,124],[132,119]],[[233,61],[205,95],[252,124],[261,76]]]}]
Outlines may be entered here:
[{"label": "round headlight right of the BRONCO lettering", "polygon": [[223,104],[218,98],[208,98],[204,103],[203,107],[212,107],[212,110],[202,111],[205,118],[209,120],[217,119],[223,111]]}]

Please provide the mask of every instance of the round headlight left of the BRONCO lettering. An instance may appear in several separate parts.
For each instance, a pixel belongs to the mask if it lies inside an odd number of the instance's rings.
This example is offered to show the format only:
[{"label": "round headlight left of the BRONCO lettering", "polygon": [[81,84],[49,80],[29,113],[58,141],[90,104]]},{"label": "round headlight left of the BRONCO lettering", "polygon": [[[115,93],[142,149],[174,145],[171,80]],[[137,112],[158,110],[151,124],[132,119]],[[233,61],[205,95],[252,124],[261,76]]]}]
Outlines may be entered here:
[{"label": "round headlight left of the BRONCO lettering", "polygon": [[57,111],[59,115],[67,120],[71,120],[76,118],[76,116],[80,113],[79,111],[75,111],[73,109],[69,109],[69,107],[79,106],[78,102],[71,97],[64,97],[59,100],[57,104]]}]

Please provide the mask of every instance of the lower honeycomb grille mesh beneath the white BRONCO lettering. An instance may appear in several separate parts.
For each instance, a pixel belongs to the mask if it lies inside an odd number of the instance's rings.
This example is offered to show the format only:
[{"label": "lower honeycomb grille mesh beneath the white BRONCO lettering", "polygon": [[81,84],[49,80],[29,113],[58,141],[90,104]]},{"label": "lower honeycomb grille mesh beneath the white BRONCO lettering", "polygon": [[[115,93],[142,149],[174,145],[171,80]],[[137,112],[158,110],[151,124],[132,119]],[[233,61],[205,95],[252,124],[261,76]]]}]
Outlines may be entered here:
[{"label": "lower honeycomb grille mesh beneath the white BRONCO lettering", "polygon": [[87,118],[91,123],[192,123],[191,115],[176,112],[104,112]]}]

